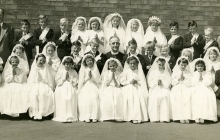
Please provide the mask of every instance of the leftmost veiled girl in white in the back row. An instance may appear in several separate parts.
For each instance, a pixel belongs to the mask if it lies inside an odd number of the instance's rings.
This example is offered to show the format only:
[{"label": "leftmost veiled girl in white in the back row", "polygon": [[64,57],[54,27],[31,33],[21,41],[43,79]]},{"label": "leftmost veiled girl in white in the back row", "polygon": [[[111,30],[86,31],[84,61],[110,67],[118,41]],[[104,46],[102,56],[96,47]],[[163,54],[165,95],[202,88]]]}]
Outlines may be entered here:
[{"label": "leftmost veiled girl in white in the back row", "polygon": [[72,25],[71,42],[80,41],[80,56],[84,55],[88,43],[87,24],[85,17],[77,17]]}]

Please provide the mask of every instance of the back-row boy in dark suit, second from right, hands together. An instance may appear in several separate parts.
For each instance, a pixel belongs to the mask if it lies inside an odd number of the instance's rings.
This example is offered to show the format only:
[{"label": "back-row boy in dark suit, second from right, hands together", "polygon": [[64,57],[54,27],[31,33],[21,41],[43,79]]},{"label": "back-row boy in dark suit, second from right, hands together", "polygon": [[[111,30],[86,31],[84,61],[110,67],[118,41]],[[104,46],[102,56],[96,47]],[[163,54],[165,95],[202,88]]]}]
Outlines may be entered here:
[{"label": "back-row boy in dark suit, second from right, hands together", "polygon": [[193,59],[199,58],[203,53],[203,47],[205,46],[205,40],[202,35],[197,33],[197,23],[190,21],[188,23],[189,33],[184,35],[184,48],[193,47]]}]

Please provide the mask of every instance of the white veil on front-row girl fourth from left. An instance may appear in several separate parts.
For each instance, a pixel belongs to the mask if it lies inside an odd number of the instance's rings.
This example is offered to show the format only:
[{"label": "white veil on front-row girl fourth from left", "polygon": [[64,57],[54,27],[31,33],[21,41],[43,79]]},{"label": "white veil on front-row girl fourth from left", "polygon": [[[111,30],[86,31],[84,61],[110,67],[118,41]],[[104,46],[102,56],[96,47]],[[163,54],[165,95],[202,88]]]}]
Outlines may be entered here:
[{"label": "white veil on front-row girl fourth from left", "polygon": [[[85,61],[85,59],[86,59],[88,56],[93,57],[92,54],[86,54],[86,55],[84,55],[84,57],[83,57],[83,59],[82,59],[82,63],[81,63],[81,68],[80,68],[80,70],[79,70],[79,85],[78,85],[78,89],[79,89],[79,90],[81,90],[82,87],[83,87],[83,83],[84,83],[85,75],[86,75],[86,70],[87,70],[87,71],[91,71],[94,80],[97,80],[97,84],[99,83],[100,73],[99,73],[99,70],[98,70],[98,67],[97,67],[97,64],[96,64],[95,59],[94,59],[94,65],[93,65],[93,67],[92,67],[91,69],[90,69],[90,68],[87,68],[87,67],[84,65],[84,61]],[[93,57],[93,58],[94,58],[94,57]],[[88,70],[88,69],[89,69],[89,70]]]}]

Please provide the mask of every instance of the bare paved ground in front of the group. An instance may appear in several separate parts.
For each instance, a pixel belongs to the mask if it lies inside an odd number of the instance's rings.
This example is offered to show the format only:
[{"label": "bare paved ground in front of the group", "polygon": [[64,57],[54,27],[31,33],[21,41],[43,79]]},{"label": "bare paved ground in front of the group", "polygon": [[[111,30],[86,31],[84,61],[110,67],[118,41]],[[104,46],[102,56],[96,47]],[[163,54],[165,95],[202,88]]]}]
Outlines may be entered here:
[{"label": "bare paved ground in front of the group", "polygon": [[220,122],[199,124],[0,119],[0,140],[219,140]]}]

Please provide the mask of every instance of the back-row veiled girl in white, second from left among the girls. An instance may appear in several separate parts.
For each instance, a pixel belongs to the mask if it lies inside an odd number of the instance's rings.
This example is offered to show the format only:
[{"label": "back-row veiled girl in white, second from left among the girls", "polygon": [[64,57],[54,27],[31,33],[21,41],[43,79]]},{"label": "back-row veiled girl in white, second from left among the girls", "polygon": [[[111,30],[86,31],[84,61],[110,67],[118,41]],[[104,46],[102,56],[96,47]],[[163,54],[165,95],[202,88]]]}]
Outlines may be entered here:
[{"label": "back-row veiled girl in white, second from left among the girls", "polygon": [[[95,38],[97,42],[100,44],[98,51],[104,53],[104,32],[103,32],[103,24],[101,18],[91,17],[89,19],[87,34],[88,34],[88,44],[90,45],[92,39]],[[85,52],[88,52],[90,50],[91,47],[87,46]]]}]

